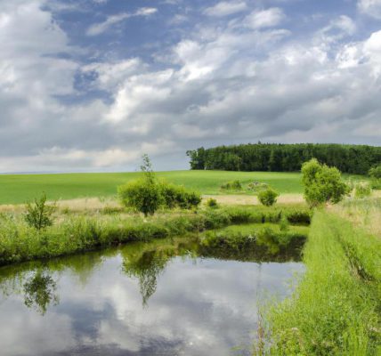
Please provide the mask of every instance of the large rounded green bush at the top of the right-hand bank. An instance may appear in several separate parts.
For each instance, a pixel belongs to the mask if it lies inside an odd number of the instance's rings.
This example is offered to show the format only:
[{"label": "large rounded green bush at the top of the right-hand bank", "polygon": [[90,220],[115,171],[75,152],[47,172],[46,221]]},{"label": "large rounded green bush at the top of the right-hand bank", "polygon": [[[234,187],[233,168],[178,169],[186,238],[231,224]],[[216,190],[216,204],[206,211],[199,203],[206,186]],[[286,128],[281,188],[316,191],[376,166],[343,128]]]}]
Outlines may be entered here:
[{"label": "large rounded green bush at the top of the right-hand bank", "polygon": [[304,198],[310,206],[328,202],[336,204],[350,191],[336,167],[320,165],[315,158],[303,164],[302,174]]}]

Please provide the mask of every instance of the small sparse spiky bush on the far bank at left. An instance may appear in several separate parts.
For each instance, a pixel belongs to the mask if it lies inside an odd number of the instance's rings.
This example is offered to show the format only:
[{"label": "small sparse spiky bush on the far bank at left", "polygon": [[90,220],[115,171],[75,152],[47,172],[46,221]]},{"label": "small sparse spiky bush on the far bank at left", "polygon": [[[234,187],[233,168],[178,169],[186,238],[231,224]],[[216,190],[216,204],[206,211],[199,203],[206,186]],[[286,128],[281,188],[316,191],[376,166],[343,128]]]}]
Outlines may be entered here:
[{"label": "small sparse spiky bush on the far bank at left", "polygon": [[45,193],[39,200],[35,199],[35,203],[27,203],[27,212],[24,214],[25,221],[29,226],[40,231],[47,226],[53,225],[52,214],[56,209],[55,205],[46,204]]}]

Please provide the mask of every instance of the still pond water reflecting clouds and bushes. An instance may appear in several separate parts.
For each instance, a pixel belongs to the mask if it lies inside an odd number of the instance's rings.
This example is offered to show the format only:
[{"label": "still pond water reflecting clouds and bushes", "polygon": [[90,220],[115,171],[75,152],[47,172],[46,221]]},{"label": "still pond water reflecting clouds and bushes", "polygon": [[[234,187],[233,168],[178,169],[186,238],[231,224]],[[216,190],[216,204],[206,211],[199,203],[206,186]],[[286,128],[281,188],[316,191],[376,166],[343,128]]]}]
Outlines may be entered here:
[{"label": "still pond water reflecting clouds and bushes", "polygon": [[0,354],[249,355],[257,302],[297,262],[205,254],[161,240],[0,268]]}]

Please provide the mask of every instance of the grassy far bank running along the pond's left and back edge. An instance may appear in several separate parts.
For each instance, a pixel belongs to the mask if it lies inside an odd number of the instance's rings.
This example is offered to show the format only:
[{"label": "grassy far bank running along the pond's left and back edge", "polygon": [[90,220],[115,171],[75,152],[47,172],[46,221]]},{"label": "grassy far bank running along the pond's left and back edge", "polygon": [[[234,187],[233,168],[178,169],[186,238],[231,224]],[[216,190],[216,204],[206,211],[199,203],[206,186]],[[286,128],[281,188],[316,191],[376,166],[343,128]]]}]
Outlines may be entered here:
[{"label": "grassy far bank running along the pond's left and back edge", "polygon": [[53,226],[36,231],[22,214],[0,214],[0,265],[51,258],[130,241],[162,239],[187,232],[217,229],[231,223],[305,223],[309,211],[300,206],[250,206],[201,209],[194,213],[165,211],[143,219],[138,214],[112,209],[88,214],[65,212],[54,216]]}]

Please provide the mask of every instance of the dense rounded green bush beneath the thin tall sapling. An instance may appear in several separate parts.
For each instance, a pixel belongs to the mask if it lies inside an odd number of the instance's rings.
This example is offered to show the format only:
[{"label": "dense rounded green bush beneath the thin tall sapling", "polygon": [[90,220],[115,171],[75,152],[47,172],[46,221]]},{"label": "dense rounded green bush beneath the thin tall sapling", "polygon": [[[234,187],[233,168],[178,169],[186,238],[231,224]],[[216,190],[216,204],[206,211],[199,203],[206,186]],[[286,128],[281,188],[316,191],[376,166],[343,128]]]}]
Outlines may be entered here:
[{"label": "dense rounded green bush beneath the thin tall sapling", "polygon": [[144,216],[153,215],[162,204],[157,182],[140,179],[118,187],[118,196],[124,206],[132,207]]}]

